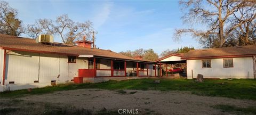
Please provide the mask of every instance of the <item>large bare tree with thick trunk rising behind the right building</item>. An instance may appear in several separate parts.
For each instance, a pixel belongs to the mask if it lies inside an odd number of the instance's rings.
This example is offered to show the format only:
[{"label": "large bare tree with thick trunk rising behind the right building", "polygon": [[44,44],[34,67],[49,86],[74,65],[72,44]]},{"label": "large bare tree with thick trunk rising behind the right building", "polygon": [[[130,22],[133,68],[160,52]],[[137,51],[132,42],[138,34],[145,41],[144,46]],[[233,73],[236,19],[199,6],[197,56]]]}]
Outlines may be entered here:
[{"label": "large bare tree with thick trunk rising behind the right building", "polygon": [[[206,40],[209,36],[218,37],[219,47],[227,42],[230,33],[236,28],[244,24],[236,23],[233,26],[229,25],[229,18],[238,11],[239,7],[244,7],[250,4],[251,0],[189,0],[180,1],[182,10],[188,10],[182,17],[184,23],[200,23],[206,26],[206,30],[197,30],[195,28],[177,29],[175,30],[174,38],[177,40],[184,33],[190,33],[198,40]],[[216,36],[215,36],[216,35]]]}]

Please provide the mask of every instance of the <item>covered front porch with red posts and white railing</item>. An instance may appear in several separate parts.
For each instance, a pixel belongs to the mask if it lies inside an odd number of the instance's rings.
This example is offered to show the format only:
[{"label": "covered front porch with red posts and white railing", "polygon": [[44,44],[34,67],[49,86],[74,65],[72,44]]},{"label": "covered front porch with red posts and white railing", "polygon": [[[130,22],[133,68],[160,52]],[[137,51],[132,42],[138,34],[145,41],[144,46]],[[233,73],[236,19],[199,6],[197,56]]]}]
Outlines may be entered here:
[{"label": "covered front porch with red posts and white railing", "polygon": [[[97,79],[116,78],[137,78],[155,75],[153,72],[153,62],[143,62],[136,60],[108,59],[106,57],[86,57],[87,68],[78,69],[78,77],[74,78],[75,83]],[[149,73],[150,72],[150,73]],[[75,80],[79,79],[79,81]],[[84,80],[87,79],[87,80]]]}]

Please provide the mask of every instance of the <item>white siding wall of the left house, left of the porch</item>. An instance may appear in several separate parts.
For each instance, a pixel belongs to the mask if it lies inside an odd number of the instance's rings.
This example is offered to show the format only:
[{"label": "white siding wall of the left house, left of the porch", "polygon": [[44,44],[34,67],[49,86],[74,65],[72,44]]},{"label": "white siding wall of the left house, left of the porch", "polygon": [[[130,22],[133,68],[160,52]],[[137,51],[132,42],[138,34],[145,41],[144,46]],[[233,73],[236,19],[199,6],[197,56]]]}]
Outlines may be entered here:
[{"label": "white siding wall of the left house, left of the porch", "polygon": [[38,80],[38,75],[39,83],[51,83],[51,80],[64,83],[77,77],[78,69],[88,68],[86,58],[78,58],[76,63],[68,63],[66,55],[19,51],[9,52],[6,62],[6,84],[9,81],[14,81],[15,84],[31,84]]}]

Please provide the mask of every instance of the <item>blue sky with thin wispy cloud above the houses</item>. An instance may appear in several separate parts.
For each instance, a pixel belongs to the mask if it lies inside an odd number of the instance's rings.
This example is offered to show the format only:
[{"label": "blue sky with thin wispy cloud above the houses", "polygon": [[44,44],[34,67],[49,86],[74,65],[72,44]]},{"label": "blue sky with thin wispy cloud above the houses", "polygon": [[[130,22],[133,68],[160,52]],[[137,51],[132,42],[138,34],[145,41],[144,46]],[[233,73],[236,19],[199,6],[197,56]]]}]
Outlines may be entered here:
[{"label": "blue sky with thin wispy cloud above the houses", "polygon": [[[173,41],[175,28],[186,28],[178,1],[7,1],[24,24],[39,18],[55,20],[68,14],[78,22],[90,20],[98,34],[95,44],[115,52],[153,48],[162,51],[201,45],[191,36]],[[23,35],[23,37],[27,37]],[[54,38],[61,42],[60,38]]]}]

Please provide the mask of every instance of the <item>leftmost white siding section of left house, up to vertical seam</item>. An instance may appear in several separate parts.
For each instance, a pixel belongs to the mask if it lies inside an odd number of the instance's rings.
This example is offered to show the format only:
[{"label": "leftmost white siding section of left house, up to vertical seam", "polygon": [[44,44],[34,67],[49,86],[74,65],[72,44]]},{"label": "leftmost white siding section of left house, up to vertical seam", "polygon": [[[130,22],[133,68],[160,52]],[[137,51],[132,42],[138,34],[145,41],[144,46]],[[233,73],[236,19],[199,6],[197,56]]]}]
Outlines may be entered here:
[{"label": "leftmost white siding section of left house, up to vertical seam", "polygon": [[6,54],[6,81],[15,84],[34,83],[38,79],[38,53],[9,52]]}]

